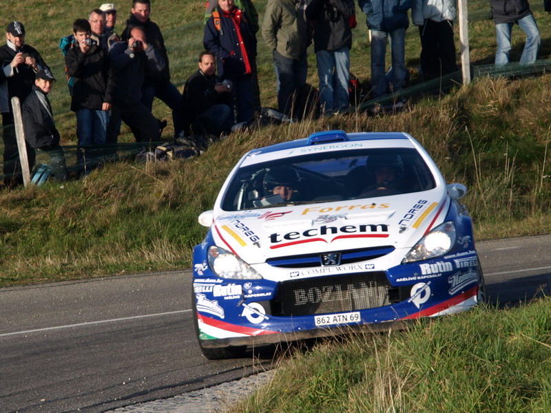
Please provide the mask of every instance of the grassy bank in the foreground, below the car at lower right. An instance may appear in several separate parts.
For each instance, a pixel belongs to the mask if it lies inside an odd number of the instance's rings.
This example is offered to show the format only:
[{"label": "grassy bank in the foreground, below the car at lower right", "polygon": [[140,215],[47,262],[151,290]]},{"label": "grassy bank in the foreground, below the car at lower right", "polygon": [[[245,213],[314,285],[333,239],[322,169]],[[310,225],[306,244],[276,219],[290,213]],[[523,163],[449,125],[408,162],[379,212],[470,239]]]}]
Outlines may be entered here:
[{"label": "grassy bank in the foreground, below the car at lower right", "polygon": [[297,352],[232,413],[550,412],[551,300]]}]

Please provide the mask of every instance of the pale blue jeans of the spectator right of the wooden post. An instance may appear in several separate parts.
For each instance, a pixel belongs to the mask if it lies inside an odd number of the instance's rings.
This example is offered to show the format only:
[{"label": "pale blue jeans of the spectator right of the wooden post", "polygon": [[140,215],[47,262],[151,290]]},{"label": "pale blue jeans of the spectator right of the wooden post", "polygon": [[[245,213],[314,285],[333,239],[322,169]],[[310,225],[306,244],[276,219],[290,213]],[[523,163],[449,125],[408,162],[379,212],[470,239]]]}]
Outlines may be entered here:
[{"label": "pale blue jeans of the spectator right of the wooden post", "polygon": [[[521,56],[521,65],[534,63],[537,59],[541,39],[536,19],[532,14],[523,17],[519,21],[520,28],[526,33],[526,44]],[[497,51],[495,52],[495,65],[503,66],[509,63],[511,51],[511,30],[514,23],[497,23],[495,32],[497,37]]]}]

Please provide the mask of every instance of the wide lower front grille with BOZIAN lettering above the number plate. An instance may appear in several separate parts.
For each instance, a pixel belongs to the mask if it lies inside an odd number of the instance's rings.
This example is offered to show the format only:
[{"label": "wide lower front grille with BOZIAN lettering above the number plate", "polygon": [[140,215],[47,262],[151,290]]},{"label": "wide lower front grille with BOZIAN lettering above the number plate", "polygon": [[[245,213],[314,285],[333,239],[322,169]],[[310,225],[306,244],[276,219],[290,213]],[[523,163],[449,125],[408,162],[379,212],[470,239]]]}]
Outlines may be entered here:
[{"label": "wide lower front grille with BOZIAN lettering above the number plate", "polygon": [[343,313],[390,304],[385,273],[360,273],[296,279],[280,283],[272,314]]}]

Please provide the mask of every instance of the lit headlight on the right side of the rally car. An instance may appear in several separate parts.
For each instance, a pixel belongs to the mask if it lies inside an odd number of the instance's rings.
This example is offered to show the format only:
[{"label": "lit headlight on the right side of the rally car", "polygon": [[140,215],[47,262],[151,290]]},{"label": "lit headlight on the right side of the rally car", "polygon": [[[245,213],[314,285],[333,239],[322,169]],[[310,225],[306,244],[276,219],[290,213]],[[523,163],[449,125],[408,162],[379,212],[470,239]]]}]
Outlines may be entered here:
[{"label": "lit headlight on the right side of the rally car", "polygon": [[455,244],[455,224],[444,222],[421,238],[406,254],[402,264],[440,257],[452,249]]}]

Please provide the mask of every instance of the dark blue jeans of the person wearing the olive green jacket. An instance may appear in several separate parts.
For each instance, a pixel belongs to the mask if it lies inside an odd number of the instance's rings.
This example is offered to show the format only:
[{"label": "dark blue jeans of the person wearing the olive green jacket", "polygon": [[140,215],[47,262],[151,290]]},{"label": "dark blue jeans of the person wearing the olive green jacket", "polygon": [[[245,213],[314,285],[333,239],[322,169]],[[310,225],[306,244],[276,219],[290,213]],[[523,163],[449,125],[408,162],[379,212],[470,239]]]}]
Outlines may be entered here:
[{"label": "dark blue jeans of the person wearing the olive green jacket", "polygon": [[277,50],[273,50],[272,55],[278,91],[278,111],[290,116],[293,110],[293,94],[306,83],[307,54],[304,51],[298,60],[285,57]]}]

